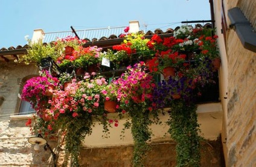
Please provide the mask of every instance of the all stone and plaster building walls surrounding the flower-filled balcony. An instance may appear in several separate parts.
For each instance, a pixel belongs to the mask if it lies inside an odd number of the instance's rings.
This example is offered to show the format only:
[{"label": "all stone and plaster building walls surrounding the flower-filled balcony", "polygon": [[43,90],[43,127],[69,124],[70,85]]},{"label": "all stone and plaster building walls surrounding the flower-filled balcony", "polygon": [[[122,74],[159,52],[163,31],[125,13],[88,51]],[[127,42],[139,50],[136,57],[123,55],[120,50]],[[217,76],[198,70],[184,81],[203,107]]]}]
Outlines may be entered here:
[{"label": "all stone and plaster building walls surrounding the flower-filled balcony", "polygon": [[[202,136],[208,139],[202,143],[201,163],[202,166],[223,166],[223,153],[226,166],[256,166],[256,53],[243,45],[235,25],[230,26],[232,16],[228,16],[232,8],[238,7],[256,30],[256,1],[213,2],[222,59],[220,102],[200,104],[197,109]],[[31,134],[25,123],[31,118],[30,113],[19,114],[24,105],[18,94],[25,81],[38,75],[39,71],[36,65],[14,62],[18,56],[26,54],[25,49],[26,46],[18,46],[0,50],[0,166],[53,166],[50,150],[40,147],[35,151],[28,143]],[[161,119],[164,121],[167,117]],[[120,120],[120,125],[122,121],[125,120]],[[110,130],[112,136],[103,139],[100,127],[95,126],[94,133],[83,142],[82,165],[130,166],[132,136],[127,131],[126,138],[120,140],[121,129],[120,126]],[[146,165],[175,166],[175,143],[170,136],[164,136],[168,128],[155,126],[152,129],[155,136]],[[47,140],[57,154],[57,166],[68,164],[68,154],[63,150],[61,140],[56,136]]]}]

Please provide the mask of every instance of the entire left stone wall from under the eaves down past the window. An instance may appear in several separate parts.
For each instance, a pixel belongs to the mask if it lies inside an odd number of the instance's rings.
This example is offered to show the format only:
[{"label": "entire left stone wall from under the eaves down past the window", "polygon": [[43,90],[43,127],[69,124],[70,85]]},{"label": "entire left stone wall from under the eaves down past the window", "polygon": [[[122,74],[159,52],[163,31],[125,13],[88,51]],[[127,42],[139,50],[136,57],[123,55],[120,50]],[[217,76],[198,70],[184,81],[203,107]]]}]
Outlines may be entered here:
[{"label": "entire left stone wall from under the eaves down past the window", "polygon": [[[31,134],[25,126],[27,118],[14,116],[19,112],[22,79],[38,75],[37,67],[0,63],[0,71],[0,166],[51,166],[50,151],[43,147],[34,151],[28,143]],[[13,116],[16,119],[11,119]]]}]

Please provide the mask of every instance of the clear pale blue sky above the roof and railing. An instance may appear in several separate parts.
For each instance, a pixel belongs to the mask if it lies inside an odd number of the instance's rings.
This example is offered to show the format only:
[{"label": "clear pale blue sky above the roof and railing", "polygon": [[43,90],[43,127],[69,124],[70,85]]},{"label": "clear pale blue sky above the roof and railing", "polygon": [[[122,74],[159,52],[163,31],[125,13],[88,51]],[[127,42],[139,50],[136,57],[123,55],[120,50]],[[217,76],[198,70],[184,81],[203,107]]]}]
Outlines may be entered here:
[{"label": "clear pale blue sky above the roof and railing", "polygon": [[33,30],[45,32],[128,26],[175,28],[185,20],[210,20],[208,0],[0,0],[0,48],[24,46]]}]

